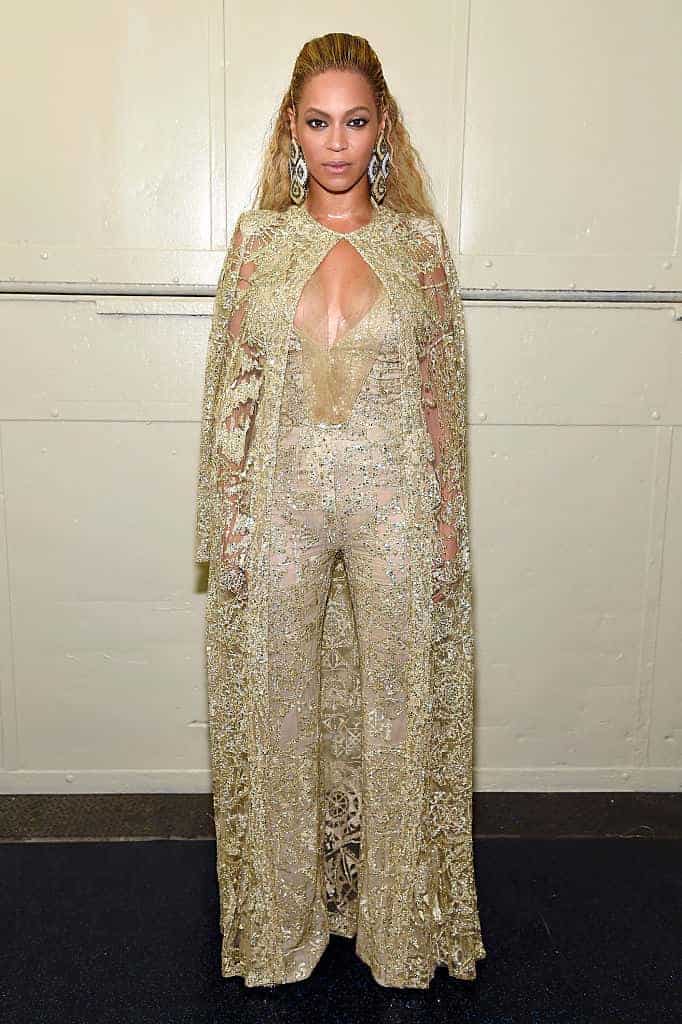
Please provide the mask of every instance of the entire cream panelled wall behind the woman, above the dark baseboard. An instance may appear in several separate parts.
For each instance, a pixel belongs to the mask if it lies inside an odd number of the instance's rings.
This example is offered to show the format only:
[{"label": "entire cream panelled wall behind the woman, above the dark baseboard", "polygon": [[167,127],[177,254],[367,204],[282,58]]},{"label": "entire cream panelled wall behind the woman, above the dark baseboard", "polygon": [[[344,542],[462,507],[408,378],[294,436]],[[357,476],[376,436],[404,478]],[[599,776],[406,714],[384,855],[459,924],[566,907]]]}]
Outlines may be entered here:
[{"label": "entire cream panelled wall behind the woman, above the dark baseboard", "polygon": [[211,293],[296,53],[348,31],[469,297],[475,786],[679,788],[682,5],[295,10],[4,12],[0,787],[210,788]]}]

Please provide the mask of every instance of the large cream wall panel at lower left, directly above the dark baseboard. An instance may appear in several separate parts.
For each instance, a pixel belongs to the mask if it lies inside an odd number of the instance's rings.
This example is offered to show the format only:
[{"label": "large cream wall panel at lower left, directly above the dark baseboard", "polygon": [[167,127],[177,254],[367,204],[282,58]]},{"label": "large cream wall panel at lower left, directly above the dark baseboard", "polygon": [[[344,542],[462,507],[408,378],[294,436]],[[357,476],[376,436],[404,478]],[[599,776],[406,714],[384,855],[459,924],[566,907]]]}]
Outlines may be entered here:
[{"label": "large cream wall panel at lower left, directly above the dark baseboard", "polygon": [[19,773],[183,769],[191,786],[206,769],[195,441],[172,423],[5,424]]}]

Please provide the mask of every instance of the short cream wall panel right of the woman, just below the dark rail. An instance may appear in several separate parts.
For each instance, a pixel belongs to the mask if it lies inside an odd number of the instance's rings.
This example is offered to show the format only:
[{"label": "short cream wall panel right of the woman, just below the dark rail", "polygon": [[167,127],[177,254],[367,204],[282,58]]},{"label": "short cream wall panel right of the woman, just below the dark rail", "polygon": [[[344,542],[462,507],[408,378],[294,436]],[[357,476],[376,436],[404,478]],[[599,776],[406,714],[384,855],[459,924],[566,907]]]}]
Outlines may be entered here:
[{"label": "short cream wall panel right of the woman, just below the dark rail", "polygon": [[469,309],[486,382],[474,420],[682,423],[682,319],[674,306],[500,302]]}]

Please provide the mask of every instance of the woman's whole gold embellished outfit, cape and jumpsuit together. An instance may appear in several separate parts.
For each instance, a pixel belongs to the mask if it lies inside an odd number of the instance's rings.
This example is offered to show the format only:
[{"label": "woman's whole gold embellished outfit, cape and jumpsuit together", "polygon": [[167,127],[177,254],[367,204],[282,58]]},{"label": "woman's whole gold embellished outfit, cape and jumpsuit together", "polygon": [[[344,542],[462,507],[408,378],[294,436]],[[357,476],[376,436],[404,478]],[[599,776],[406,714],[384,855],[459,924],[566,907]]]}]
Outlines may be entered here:
[{"label": "woman's whole gold embellished outfit, cape and jumpsuit together", "polygon": [[[251,234],[232,243],[216,300],[198,519],[199,554],[212,551],[207,652],[222,973],[247,985],[302,980],[335,933],[356,936],[357,954],[383,985],[427,987],[438,962],[473,978],[485,951],[471,860],[469,597],[458,585],[430,612],[431,577],[427,591],[420,575],[442,561],[449,537],[436,513],[453,477],[436,466],[441,445],[444,465],[457,465],[445,445],[456,452],[459,435],[432,411],[434,393],[444,394],[447,375],[453,386],[460,367],[447,355],[445,373],[430,371],[436,350],[422,332],[410,382],[423,402],[410,414],[419,424],[415,452],[412,420],[406,436],[400,291],[412,263],[388,242],[392,225],[402,229],[399,216],[380,211],[345,241],[302,209],[252,218]],[[298,255],[284,264],[299,267],[285,298],[276,230],[303,254],[300,266]],[[425,279],[430,308],[442,310],[431,329],[442,339],[438,370],[459,335],[442,251],[418,238],[426,256],[420,248],[415,266],[421,258],[435,268]],[[332,326],[325,259],[353,242],[355,283]],[[396,252],[395,278],[388,262],[382,280],[363,259],[374,261],[375,249],[379,259]],[[240,303],[249,292],[250,303]],[[271,318],[276,339],[279,303],[293,322],[283,354],[268,358],[273,348],[259,338]],[[225,339],[232,362],[219,378],[215,353]],[[223,425],[217,443],[213,424]],[[452,435],[444,441],[443,424]],[[406,487],[406,457],[418,494]],[[209,490],[215,465],[220,488]],[[212,531],[203,493],[218,495]],[[255,523],[254,506],[262,510]],[[457,564],[466,567],[466,520],[457,515],[464,525],[453,529],[451,514],[445,526],[458,534]]]}]

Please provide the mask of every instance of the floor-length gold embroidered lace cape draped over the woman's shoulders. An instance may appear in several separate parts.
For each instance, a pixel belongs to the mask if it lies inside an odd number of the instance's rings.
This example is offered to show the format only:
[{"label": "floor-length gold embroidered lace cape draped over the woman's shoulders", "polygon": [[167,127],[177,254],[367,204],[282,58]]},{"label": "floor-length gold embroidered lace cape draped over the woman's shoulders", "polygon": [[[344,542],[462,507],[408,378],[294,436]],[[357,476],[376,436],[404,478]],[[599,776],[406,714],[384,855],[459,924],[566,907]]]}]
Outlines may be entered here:
[{"label": "floor-length gold embroidered lace cape draped over the woman's shoulders", "polygon": [[[476,959],[485,956],[471,835],[474,637],[466,338],[442,226],[435,218],[385,207],[352,232],[325,227],[305,207],[245,211],[216,291],[202,406],[195,555],[196,561],[209,562],[206,654],[222,974],[243,975],[247,985],[290,980],[278,941],[287,906],[274,884],[273,837],[267,826],[271,810],[287,800],[287,780],[275,784],[268,775],[274,744],[266,714],[268,513],[297,301],[340,238],[348,239],[376,272],[400,331],[401,486],[411,549],[410,600],[400,621],[411,686],[407,753],[394,784],[409,813],[393,851],[389,948],[381,955],[391,965],[388,983],[426,987],[437,964],[445,964],[456,978],[472,979]],[[437,424],[435,447],[428,422]],[[436,518],[457,538],[457,557],[444,571],[431,556]],[[244,571],[246,588],[239,585]],[[436,579],[444,593],[439,602],[432,599]],[[352,744],[335,741],[356,732],[360,699],[357,638],[341,559],[325,618],[321,686],[321,759],[345,760],[334,765],[335,777],[342,774],[357,790],[360,754]],[[321,776],[327,777],[324,764]],[[333,800],[325,807],[329,842],[321,858],[330,930],[352,936],[361,820],[355,819],[356,807],[340,810]]]}]

